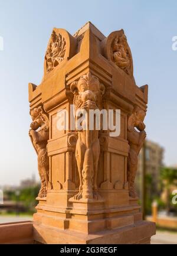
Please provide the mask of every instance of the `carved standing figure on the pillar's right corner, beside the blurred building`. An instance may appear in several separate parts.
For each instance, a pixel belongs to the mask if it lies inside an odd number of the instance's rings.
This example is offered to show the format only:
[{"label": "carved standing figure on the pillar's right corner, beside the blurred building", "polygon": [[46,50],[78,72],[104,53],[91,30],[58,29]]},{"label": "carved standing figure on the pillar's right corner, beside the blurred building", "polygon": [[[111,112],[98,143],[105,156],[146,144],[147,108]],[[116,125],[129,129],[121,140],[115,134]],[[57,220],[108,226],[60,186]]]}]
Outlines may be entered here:
[{"label": "carved standing figure on the pillar's right corner, beside the blurred building", "polygon": [[127,159],[127,180],[129,182],[129,195],[133,198],[136,197],[135,176],[137,171],[137,157],[146,138],[146,126],[143,122],[145,115],[145,111],[136,106],[132,115],[129,116],[127,123],[127,140],[130,145]]}]

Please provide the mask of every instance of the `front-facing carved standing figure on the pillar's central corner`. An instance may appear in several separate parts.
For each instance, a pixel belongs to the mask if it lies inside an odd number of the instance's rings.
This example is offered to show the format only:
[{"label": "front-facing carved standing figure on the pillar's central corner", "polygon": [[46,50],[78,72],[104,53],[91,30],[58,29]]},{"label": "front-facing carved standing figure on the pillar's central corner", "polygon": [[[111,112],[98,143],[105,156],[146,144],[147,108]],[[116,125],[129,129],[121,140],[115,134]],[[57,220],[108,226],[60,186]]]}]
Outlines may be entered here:
[{"label": "front-facing carved standing figure on the pillar's central corner", "polygon": [[[81,76],[77,82],[71,84],[74,93],[74,106],[78,109],[101,108],[104,85],[90,72]],[[88,115],[89,118],[89,115]],[[87,120],[89,125],[89,120]],[[77,130],[77,127],[76,127]],[[79,192],[74,199],[99,199],[97,194],[97,167],[100,155],[99,131],[89,130],[89,127],[78,131],[76,143],[76,160],[80,178]]]}]

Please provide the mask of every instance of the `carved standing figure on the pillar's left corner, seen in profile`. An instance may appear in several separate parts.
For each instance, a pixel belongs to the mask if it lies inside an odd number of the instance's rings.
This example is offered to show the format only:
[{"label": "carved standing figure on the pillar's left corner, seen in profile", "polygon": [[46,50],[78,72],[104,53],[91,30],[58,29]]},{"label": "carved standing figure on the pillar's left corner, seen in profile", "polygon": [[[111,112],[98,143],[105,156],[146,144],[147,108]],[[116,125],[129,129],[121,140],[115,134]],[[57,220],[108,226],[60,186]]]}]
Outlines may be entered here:
[{"label": "carved standing figure on the pillar's left corner, seen in profile", "polygon": [[38,197],[47,196],[49,161],[47,155],[47,140],[49,138],[49,121],[41,106],[30,111],[32,123],[29,135],[32,145],[38,155],[38,171],[41,178],[41,189]]}]

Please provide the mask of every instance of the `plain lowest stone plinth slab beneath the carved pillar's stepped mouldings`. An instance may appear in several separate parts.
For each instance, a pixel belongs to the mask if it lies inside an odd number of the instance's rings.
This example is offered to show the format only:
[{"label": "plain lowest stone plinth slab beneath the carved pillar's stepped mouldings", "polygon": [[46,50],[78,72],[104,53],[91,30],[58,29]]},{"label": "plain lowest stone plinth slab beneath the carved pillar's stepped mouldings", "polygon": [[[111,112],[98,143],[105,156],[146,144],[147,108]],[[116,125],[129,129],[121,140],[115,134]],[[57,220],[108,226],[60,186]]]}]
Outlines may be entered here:
[{"label": "plain lowest stone plinth slab beneath the carved pillar's stepped mouldings", "polygon": [[150,244],[152,235],[155,223],[148,221],[89,235],[34,223],[34,241],[42,244]]}]

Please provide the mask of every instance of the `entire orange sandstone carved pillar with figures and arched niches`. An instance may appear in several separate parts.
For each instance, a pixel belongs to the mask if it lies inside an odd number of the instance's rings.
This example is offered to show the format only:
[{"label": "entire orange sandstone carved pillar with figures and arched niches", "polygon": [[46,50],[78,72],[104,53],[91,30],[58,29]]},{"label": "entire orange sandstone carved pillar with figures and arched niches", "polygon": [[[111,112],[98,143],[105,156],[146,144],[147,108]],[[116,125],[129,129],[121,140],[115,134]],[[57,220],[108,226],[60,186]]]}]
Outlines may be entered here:
[{"label": "entire orange sandstone carved pillar with figures and arched niches", "polygon": [[[142,221],[134,188],[137,155],[146,137],[148,86],[136,86],[123,30],[105,37],[90,22],[73,36],[54,28],[44,77],[38,86],[29,84],[29,101],[30,137],[42,183],[35,241],[150,243],[155,223]],[[102,126],[90,131],[71,125],[83,109],[113,109],[114,118],[120,109],[119,136]],[[68,127],[61,129],[65,113]]]}]

